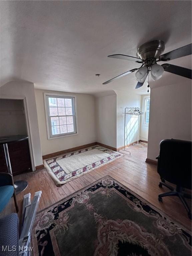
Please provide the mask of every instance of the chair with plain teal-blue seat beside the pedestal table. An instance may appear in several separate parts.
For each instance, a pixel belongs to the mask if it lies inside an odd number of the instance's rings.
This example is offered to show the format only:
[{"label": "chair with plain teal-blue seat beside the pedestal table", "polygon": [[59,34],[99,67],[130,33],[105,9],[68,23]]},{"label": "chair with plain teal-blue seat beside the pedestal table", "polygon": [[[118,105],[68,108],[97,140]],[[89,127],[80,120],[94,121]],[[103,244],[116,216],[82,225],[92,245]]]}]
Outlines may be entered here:
[{"label": "chair with plain teal-blue seat beside the pedestal table", "polygon": [[5,208],[11,197],[13,196],[16,211],[19,211],[16,195],[14,191],[13,177],[6,172],[0,172],[0,212]]}]

